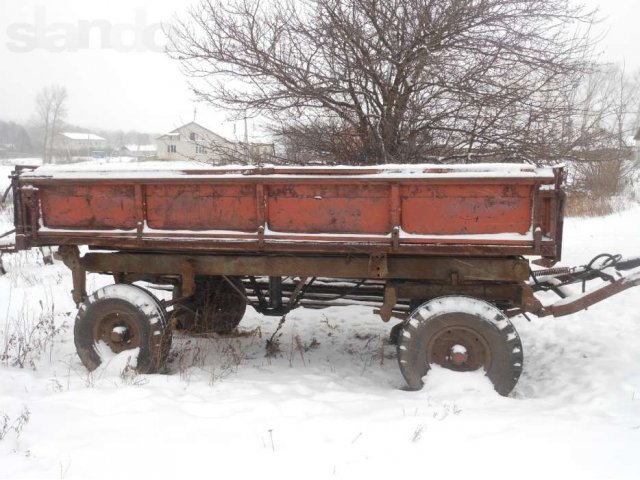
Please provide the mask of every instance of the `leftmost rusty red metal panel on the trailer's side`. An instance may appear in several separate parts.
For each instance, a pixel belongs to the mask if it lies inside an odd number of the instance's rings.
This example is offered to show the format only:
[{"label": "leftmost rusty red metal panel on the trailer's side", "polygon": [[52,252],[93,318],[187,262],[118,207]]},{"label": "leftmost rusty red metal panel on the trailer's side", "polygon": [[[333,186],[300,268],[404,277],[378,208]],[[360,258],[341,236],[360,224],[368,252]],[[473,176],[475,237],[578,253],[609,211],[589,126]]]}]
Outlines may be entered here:
[{"label": "leftmost rusty red metal panel on the trailer's side", "polygon": [[49,228],[135,228],[134,198],[133,185],[40,187],[42,220]]}]

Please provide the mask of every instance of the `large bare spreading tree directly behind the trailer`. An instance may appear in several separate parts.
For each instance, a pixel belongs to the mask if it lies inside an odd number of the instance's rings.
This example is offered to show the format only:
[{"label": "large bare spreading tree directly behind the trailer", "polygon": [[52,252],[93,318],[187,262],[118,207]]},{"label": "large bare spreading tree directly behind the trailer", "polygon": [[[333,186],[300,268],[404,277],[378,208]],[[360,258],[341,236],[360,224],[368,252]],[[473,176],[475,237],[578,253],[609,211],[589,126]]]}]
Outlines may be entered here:
[{"label": "large bare spreading tree directly behind the trailer", "polygon": [[200,0],[169,52],[201,100],[339,161],[537,158],[592,22],[569,0]]}]

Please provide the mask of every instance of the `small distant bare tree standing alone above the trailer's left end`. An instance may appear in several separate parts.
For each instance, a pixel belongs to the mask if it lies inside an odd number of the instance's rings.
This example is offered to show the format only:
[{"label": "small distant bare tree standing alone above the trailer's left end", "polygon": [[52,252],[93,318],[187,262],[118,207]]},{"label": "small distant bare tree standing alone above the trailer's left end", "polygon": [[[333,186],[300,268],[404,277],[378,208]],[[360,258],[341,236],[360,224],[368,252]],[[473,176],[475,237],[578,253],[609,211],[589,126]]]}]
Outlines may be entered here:
[{"label": "small distant bare tree standing alone above the trailer's left end", "polygon": [[60,85],[43,88],[36,97],[36,115],[43,130],[43,163],[50,163],[53,142],[67,116],[67,89]]}]

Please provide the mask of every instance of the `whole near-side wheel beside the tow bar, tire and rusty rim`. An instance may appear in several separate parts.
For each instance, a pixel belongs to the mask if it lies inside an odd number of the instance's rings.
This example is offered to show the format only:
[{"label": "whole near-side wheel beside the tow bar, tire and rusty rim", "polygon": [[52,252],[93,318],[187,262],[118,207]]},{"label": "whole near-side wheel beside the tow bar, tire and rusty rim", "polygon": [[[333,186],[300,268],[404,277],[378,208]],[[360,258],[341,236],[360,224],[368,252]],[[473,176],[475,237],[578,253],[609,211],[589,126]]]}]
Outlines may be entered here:
[{"label": "whole near-side wheel beside the tow bar, tire and rusty rim", "polygon": [[522,372],[522,343],[509,319],[483,300],[439,297],[416,308],[398,338],[400,371],[411,390],[433,364],[459,372],[484,368],[501,395]]}]

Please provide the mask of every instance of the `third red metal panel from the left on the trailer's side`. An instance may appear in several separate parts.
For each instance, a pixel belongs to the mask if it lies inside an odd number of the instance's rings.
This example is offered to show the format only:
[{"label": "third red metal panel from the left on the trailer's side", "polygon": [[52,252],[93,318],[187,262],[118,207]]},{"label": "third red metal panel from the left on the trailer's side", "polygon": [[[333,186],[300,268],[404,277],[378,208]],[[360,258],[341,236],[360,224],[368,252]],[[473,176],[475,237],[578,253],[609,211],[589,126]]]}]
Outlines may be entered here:
[{"label": "third red metal panel from the left on the trailer's side", "polygon": [[388,184],[270,185],[269,228],[291,233],[387,234]]}]

